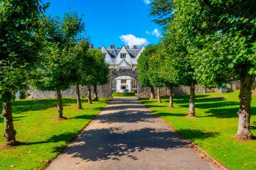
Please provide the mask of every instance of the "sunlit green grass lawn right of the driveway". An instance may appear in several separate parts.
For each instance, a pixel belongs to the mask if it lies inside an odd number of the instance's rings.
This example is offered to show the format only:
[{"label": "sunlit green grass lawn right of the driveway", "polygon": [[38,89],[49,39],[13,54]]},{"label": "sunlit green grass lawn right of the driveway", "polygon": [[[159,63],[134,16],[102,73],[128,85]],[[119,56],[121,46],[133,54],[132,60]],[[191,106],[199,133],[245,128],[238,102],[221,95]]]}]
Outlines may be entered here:
[{"label": "sunlit green grass lawn right of the driveway", "polygon": [[[182,136],[189,138],[214,159],[230,169],[256,169],[256,140],[234,140],[238,128],[239,91],[233,93],[198,94],[195,99],[197,118],[186,118],[189,95],[175,95],[174,108],[168,98],[141,99],[148,108],[170,124]],[[251,102],[251,131],[256,136],[256,93]]]}]

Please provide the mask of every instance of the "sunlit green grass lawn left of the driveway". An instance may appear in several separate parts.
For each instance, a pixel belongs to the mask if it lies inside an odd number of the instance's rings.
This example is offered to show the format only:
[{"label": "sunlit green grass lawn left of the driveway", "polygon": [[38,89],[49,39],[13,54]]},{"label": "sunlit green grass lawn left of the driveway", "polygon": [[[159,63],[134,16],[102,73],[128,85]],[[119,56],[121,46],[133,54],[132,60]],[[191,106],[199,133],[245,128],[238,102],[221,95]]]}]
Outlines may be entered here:
[{"label": "sunlit green grass lawn left of the driveway", "polygon": [[[100,99],[88,105],[87,99],[82,99],[84,110],[76,110],[76,99],[64,98],[63,116],[68,119],[56,121],[57,99],[16,100],[13,122],[20,144],[0,148],[0,169],[44,169],[108,101]],[[3,116],[0,116],[0,133],[3,132]],[[0,144],[4,142],[0,135]]]}]

